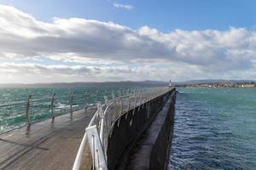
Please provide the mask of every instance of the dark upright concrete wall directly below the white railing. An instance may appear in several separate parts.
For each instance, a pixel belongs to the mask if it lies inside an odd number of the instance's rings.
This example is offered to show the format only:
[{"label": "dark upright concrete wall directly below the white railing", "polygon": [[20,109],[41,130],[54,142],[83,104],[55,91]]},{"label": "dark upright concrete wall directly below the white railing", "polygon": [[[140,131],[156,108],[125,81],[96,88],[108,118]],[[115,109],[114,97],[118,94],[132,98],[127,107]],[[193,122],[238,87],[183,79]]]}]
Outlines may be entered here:
[{"label": "dark upright concrete wall directly below the white railing", "polygon": [[[123,167],[132,145],[136,143],[137,139],[150,126],[150,123],[154,121],[155,116],[166,104],[173,91],[175,91],[174,88],[170,89],[168,93],[137,106],[134,110],[128,111],[119,117],[114,123],[111,135],[108,138],[108,169]],[[164,133],[160,134],[155,150],[158,150],[159,146],[157,145],[161,144],[160,138],[162,135]],[[154,155],[152,159],[154,159]]]}]

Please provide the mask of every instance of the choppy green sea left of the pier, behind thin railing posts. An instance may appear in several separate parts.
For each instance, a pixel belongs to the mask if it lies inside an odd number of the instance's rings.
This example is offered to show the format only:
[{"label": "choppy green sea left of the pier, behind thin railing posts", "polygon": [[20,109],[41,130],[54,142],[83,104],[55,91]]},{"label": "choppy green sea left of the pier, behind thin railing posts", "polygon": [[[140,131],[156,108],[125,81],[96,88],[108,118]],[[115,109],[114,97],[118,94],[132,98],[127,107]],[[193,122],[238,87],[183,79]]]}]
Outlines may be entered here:
[{"label": "choppy green sea left of the pier, behind thin railing posts", "polygon": [[142,90],[141,87],[84,87],[84,88],[0,88],[0,133],[26,125],[26,103],[30,105],[31,122],[51,118],[51,99],[55,94],[54,115],[70,113],[70,93],[73,93],[73,111],[108,99]]}]

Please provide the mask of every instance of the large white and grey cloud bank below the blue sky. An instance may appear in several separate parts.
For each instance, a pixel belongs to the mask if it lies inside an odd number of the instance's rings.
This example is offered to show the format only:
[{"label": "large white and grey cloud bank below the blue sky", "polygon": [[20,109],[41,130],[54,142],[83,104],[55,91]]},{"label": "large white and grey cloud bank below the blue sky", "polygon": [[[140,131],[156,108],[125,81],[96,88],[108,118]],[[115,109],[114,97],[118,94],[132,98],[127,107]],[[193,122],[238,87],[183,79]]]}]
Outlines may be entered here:
[{"label": "large white and grey cloud bank below the blue sky", "polygon": [[[15,71],[39,75],[44,70],[43,73],[48,73],[45,76],[53,81],[56,74],[62,77],[58,81],[67,76],[71,81],[256,79],[256,31],[247,28],[165,33],[148,26],[134,30],[112,22],[79,18],[42,22],[17,8],[0,5],[0,37],[0,61],[5,60],[0,71],[2,77],[15,77]],[[38,65],[38,56],[54,59],[62,66]],[[14,65],[7,64],[8,59]],[[15,61],[20,59],[35,62],[26,63],[30,67],[16,65]],[[80,65],[69,66],[70,62]],[[85,66],[86,63],[96,70]],[[102,69],[105,73],[97,74]],[[94,74],[98,77],[93,77]]]}]

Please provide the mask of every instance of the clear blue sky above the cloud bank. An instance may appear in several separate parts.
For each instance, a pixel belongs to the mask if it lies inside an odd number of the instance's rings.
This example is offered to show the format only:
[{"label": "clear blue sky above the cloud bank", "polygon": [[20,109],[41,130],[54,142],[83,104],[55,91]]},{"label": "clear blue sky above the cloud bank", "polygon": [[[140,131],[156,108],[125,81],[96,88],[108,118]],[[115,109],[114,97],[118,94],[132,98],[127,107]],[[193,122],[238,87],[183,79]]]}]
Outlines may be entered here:
[{"label": "clear blue sky above the cloud bank", "polygon": [[[131,10],[114,8],[113,2],[131,4]],[[256,23],[254,0],[2,0],[38,20],[78,17],[113,21],[137,29],[149,26],[160,31],[227,30],[230,26],[252,28]]]}]

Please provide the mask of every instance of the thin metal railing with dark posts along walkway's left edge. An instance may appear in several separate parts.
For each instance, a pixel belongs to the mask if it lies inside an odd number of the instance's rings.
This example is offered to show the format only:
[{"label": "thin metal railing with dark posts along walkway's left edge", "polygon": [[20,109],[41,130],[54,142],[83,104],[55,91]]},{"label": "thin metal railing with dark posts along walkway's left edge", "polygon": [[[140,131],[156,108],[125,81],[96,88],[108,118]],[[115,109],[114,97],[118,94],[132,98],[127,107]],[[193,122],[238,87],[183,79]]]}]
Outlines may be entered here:
[{"label": "thin metal railing with dark posts along walkway's left edge", "polygon": [[[0,121],[2,126],[9,127],[1,133],[9,132],[17,127],[27,126],[30,128],[32,123],[51,118],[55,121],[55,116],[69,113],[73,116],[74,111],[84,110],[86,113],[89,106],[94,106],[98,102],[106,102],[116,96],[135,94],[150,88],[112,88],[107,90],[94,91],[70,91],[66,95],[53,93],[43,99],[36,95],[28,95],[26,99],[9,99],[0,101]],[[18,121],[19,122],[18,122]]]}]

